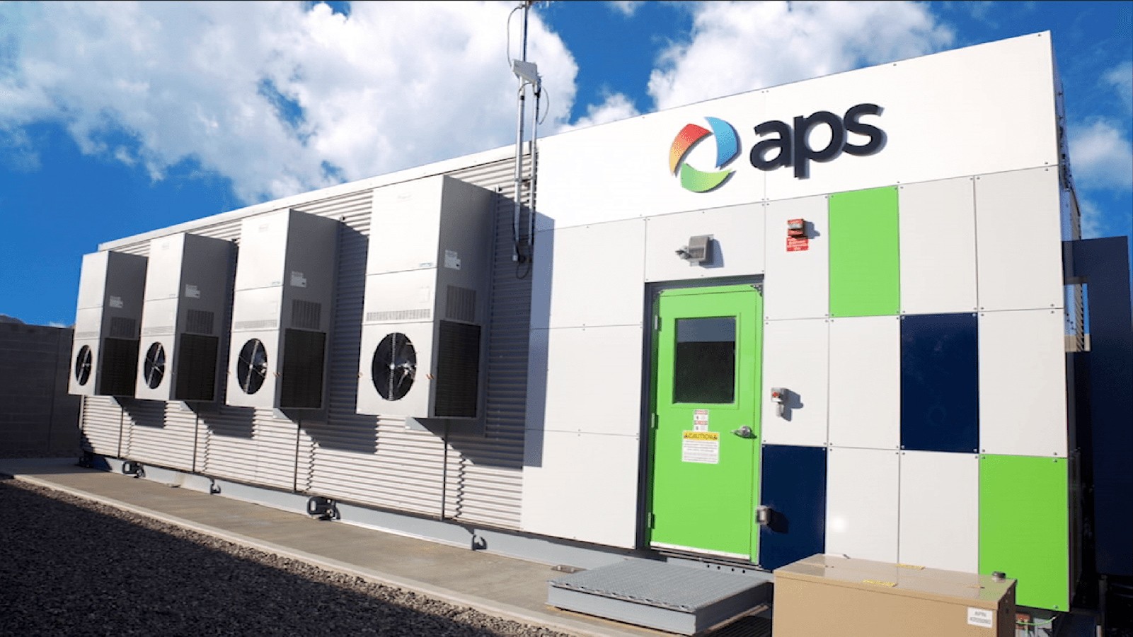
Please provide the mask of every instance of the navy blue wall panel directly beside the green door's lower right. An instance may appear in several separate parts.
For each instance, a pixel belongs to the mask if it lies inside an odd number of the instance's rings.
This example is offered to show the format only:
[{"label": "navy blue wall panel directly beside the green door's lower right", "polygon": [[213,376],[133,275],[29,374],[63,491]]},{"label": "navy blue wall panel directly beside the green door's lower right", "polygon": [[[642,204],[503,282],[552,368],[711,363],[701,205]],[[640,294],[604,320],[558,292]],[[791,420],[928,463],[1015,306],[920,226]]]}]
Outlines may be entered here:
[{"label": "navy blue wall panel directly beside the green door's lower right", "polygon": [[776,569],[826,546],[826,448],[765,445],[763,498],[772,519],[759,528],[759,565]]}]

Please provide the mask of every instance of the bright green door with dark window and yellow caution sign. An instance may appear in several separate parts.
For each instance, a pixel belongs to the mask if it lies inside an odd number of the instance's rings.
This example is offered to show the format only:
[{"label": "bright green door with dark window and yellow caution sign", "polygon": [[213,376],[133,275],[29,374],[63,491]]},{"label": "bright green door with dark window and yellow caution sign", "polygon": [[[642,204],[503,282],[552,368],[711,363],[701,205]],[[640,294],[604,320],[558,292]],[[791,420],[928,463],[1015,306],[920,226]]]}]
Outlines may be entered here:
[{"label": "bright green door with dark window and yellow caution sign", "polygon": [[750,560],[763,296],[751,285],[666,290],[654,311],[650,544]]}]

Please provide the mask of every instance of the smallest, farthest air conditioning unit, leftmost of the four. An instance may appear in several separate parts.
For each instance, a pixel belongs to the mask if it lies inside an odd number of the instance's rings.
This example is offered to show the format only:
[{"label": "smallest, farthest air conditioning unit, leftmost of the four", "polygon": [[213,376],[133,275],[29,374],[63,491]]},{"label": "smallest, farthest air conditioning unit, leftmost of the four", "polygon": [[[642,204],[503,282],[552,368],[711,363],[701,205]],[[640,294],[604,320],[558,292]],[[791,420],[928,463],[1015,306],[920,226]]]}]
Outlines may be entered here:
[{"label": "smallest, farthest air conditioning unit, leftmost of the four", "polygon": [[137,255],[83,256],[69,394],[134,395],[145,270]]}]

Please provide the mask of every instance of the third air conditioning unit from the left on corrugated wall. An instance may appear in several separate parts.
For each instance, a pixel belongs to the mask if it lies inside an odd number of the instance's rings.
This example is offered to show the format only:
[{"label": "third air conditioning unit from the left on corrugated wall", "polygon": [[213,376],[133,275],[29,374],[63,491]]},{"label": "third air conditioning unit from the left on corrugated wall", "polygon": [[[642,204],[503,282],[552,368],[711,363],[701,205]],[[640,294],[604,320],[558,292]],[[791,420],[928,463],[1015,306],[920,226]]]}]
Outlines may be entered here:
[{"label": "third air conditioning unit from the left on corrugated wall", "polygon": [[322,408],[339,222],[297,210],[244,219],[225,402]]}]

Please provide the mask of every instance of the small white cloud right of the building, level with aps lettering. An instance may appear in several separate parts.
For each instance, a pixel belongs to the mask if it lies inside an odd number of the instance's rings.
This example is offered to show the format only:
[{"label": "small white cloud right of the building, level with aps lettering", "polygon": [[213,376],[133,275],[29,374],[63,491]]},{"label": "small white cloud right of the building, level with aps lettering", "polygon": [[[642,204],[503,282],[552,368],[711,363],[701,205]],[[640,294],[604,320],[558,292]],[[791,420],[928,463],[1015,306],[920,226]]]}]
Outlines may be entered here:
[{"label": "small white cloud right of the building, level with aps lettering", "polygon": [[1082,188],[1133,189],[1133,144],[1108,120],[1071,128],[1070,160]]}]

